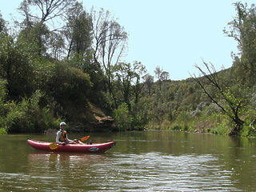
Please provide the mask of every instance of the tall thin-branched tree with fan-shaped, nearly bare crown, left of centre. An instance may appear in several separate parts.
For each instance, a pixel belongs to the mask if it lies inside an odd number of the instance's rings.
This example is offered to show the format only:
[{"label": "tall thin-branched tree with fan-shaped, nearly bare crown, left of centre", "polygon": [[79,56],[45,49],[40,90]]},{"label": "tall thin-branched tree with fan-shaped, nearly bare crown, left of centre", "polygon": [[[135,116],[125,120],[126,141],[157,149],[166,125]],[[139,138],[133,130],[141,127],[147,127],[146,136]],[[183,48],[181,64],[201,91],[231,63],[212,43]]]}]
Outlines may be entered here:
[{"label": "tall thin-branched tree with fan-shaped, nearly bare crown, left of centre", "polygon": [[[94,62],[101,68],[104,78],[98,81],[106,80],[107,89],[114,100],[117,108],[117,101],[114,94],[114,66],[118,64],[122,54],[126,50],[128,34],[124,27],[111,18],[110,12],[103,9],[96,12],[91,10],[92,30],[94,36]],[[102,75],[103,77],[103,75]]]}]

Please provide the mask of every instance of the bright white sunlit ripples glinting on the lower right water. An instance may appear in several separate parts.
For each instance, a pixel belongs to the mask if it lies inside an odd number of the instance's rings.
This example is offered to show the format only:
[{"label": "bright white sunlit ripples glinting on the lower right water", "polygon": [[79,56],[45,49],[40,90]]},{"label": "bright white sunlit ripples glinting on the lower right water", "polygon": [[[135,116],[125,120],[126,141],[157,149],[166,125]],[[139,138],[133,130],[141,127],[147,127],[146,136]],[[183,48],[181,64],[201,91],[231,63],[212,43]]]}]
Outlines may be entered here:
[{"label": "bright white sunlit ripples glinting on the lower right water", "polygon": [[[115,189],[136,190],[234,190],[230,171],[218,166],[211,154],[172,156],[161,153],[115,154],[101,172]],[[110,164],[110,166],[109,166]],[[94,165],[97,166],[97,165]],[[96,171],[96,170],[95,170]],[[111,172],[114,174],[110,174]],[[117,174],[118,173],[118,174]],[[102,179],[101,178],[101,179]],[[90,183],[94,185],[94,183]],[[106,182],[104,182],[106,186]],[[114,189],[114,188],[113,188]]]}]

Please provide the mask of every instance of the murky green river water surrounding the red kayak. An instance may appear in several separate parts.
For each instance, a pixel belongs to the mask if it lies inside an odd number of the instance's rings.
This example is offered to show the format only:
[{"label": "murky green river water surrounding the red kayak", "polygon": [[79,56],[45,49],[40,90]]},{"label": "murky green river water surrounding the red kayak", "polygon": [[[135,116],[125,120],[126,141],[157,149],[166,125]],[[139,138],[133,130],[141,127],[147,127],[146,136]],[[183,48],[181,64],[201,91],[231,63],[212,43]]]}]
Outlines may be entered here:
[{"label": "murky green river water surrounding the red kayak", "polygon": [[26,138],[54,142],[54,135],[0,135],[0,191],[256,191],[256,138],[90,134],[92,142],[117,142],[103,154],[34,150]]}]

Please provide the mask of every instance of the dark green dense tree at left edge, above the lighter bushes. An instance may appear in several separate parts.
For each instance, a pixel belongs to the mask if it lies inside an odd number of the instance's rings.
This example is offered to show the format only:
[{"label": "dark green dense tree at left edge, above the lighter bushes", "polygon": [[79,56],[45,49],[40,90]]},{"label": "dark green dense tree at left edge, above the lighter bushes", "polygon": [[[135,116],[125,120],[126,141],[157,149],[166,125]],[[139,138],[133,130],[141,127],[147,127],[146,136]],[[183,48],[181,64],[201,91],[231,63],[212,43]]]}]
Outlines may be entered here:
[{"label": "dark green dense tree at left edge, above the lighter bushes", "polygon": [[34,91],[34,66],[27,44],[10,35],[0,38],[0,78],[7,81],[9,97],[18,100]]}]

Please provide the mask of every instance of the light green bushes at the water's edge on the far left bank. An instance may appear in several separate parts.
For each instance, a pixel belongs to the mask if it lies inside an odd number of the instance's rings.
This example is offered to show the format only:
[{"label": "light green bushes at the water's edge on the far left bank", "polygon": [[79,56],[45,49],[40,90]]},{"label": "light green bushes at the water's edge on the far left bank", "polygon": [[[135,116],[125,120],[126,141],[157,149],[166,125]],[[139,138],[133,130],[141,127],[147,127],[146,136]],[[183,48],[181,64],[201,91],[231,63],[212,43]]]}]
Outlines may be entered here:
[{"label": "light green bushes at the water's edge on the far left bank", "polygon": [[[0,124],[1,133],[6,132],[42,132],[54,125],[49,107],[41,108],[40,99],[43,94],[36,91],[31,98],[23,98],[22,102],[6,101],[6,81],[0,81]],[[35,130],[36,129],[36,130]]]}]

